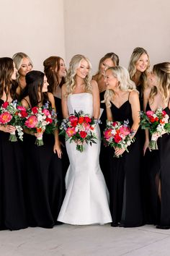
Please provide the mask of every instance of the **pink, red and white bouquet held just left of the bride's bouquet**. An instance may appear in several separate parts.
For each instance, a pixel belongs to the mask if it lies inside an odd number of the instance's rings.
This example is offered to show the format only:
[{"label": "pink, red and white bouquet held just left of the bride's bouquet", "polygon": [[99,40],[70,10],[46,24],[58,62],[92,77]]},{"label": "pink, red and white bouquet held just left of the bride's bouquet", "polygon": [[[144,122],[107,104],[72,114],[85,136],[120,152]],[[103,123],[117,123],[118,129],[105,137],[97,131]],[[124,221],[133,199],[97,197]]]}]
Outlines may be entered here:
[{"label": "pink, red and white bouquet held just left of the bride's bouquet", "polygon": [[27,110],[27,118],[24,127],[30,129],[33,133],[37,133],[35,144],[37,146],[44,145],[42,136],[44,132],[53,133],[56,129],[57,119],[53,109],[48,106],[33,107]]}]

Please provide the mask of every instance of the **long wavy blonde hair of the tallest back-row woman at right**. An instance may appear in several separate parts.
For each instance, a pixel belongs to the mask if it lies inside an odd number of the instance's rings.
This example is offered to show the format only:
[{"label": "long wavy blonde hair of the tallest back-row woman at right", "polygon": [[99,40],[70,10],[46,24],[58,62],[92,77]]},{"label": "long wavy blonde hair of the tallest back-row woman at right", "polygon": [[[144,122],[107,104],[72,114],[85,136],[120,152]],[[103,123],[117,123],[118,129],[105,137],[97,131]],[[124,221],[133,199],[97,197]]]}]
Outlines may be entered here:
[{"label": "long wavy blonde hair of the tallest back-row woman at right", "polygon": [[[130,79],[133,80],[133,81],[134,81],[135,73],[137,71],[135,65],[138,62],[138,60],[140,59],[140,56],[142,54],[146,54],[148,56],[148,52],[144,48],[136,47],[133,50],[133,54],[130,56],[128,71],[129,71],[129,74],[130,74]],[[149,59],[149,56],[148,56],[148,67],[140,75],[140,83],[141,83],[141,86],[142,86],[142,93],[143,93],[143,90],[145,90],[145,88],[147,87],[147,72],[148,72],[149,67],[150,67],[150,59]]]}]

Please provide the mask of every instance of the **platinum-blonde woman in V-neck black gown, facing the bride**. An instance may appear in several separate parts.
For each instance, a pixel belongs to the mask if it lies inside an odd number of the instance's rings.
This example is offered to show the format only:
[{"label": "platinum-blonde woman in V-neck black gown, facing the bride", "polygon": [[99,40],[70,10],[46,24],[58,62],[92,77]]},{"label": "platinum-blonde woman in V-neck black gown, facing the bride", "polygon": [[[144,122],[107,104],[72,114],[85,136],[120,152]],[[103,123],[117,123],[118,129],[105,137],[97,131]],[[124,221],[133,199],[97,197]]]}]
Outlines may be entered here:
[{"label": "platinum-blonde woman in V-neck black gown, facing the bride", "polygon": [[[125,149],[109,148],[107,161],[110,179],[111,226],[143,225],[140,193],[140,143],[138,140],[140,103],[135,84],[124,67],[110,67],[105,74],[107,86],[104,101],[109,121],[129,120],[135,142]],[[115,155],[120,158],[113,158]]]}]

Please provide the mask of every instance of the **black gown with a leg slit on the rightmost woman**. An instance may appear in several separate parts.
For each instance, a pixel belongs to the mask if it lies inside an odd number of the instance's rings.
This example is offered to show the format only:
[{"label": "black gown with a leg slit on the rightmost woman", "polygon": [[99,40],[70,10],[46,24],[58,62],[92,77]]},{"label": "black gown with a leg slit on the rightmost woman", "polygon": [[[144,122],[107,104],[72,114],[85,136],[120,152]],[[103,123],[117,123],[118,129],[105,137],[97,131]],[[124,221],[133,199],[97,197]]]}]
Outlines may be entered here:
[{"label": "black gown with a leg slit on the rightmost woman", "polygon": [[[146,110],[151,110],[149,104]],[[170,118],[169,107],[164,108]],[[157,140],[158,150],[147,150],[149,223],[161,229],[170,229],[170,135],[164,134]],[[161,185],[161,199],[158,187]]]}]

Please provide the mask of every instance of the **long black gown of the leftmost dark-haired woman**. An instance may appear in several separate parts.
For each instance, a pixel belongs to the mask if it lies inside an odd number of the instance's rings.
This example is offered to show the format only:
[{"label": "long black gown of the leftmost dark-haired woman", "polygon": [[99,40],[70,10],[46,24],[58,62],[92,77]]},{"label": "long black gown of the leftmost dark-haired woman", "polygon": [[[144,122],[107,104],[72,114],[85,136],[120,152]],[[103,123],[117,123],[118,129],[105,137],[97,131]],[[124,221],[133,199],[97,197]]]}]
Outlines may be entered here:
[{"label": "long black gown of the leftmost dark-haired woman", "polygon": [[24,172],[22,142],[10,142],[9,132],[0,131],[0,229],[27,228]]}]

